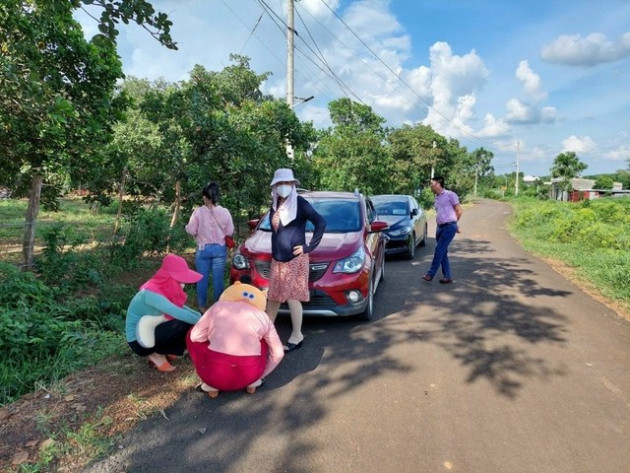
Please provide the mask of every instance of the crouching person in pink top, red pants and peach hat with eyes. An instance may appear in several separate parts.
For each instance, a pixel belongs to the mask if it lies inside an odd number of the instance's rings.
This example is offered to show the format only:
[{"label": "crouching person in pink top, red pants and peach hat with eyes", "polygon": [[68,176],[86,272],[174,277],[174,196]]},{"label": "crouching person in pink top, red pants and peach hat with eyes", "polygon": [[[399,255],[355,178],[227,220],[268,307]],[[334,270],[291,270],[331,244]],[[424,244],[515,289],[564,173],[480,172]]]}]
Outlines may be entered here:
[{"label": "crouching person in pink top, red pants and peach hat with eyes", "polygon": [[211,398],[220,390],[254,393],[278,366],[284,349],[266,304],[258,288],[236,282],[195,324],[187,346],[203,381],[198,391]]}]

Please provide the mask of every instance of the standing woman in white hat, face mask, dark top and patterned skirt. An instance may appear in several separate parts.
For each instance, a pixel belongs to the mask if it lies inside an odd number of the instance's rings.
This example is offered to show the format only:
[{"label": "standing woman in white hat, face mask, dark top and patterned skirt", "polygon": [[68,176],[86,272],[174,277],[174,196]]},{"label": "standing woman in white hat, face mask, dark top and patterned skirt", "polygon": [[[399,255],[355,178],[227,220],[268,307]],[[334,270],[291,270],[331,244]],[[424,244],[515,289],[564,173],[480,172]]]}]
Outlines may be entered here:
[{"label": "standing woman in white hat, face mask, dark top and patterned skirt", "polygon": [[[326,222],[306,199],[297,194],[291,169],[277,169],[271,181],[271,272],[267,294],[267,314],[276,319],[280,304],[287,302],[291,313],[291,335],[284,346],[285,352],[302,346],[302,302],[308,302],[308,253],[319,245]],[[306,222],[315,229],[313,238],[306,244]]]}]

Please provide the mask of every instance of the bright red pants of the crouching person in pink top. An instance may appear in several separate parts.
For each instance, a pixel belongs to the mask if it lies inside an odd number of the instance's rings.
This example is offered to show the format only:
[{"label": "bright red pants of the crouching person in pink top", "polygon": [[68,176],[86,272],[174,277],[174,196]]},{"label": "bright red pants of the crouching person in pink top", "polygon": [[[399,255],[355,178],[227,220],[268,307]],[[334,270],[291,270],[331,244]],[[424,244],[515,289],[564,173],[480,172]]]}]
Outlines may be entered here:
[{"label": "bright red pants of the crouching person in pink top", "polygon": [[267,366],[267,342],[260,341],[260,355],[234,356],[208,350],[208,343],[186,336],[188,353],[201,380],[220,391],[237,391],[258,381]]}]

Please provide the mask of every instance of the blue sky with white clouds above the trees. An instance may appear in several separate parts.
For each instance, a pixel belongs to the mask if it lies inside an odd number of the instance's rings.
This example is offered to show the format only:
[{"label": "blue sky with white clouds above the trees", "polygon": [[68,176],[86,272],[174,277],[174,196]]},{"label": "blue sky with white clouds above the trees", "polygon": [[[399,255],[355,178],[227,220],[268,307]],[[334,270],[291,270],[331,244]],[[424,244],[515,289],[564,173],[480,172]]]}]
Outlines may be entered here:
[{"label": "blue sky with white clouds above the trees", "polygon": [[[272,72],[265,92],[285,97],[286,0],[153,4],[173,21],[179,50],[124,27],[127,75],[175,82],[237,53]],[[299,0],[295,11],[295,96],[315,96],[296,105],[302,120],[329,126],[328,102],[349,97],[391,126],[424,123],[491,150],[498,174],[518,158],[526,175],[547,175],[563,151],[577,153],[585,175],[628,168],[627,0]]]}]

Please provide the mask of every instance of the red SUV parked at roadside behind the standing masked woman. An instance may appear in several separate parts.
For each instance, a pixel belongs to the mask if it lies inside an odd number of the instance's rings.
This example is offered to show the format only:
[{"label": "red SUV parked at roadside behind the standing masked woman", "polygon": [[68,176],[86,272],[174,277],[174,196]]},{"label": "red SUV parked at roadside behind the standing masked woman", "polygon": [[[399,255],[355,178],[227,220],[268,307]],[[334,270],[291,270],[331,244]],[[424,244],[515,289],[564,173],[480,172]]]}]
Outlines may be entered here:
[{"label": "red SUV parked at roadside behind the standing masked woman", "polygon": [[[300,192],[326,220],[326,232],[319,246],[309,253],[310,302],[304,315],[374,316],[374,294],[385,275],[385,244],[382,233],[387,223],[376,220],[369,198],[351,192]],[[248,222],[252,234],[234,252],[230,281],[243,275],[264,289],[269,285],[271,267],[271,226],[269,214]],[[306,241],[312,237],[310,223]],[[310,236],[309,236],[310,235]],[[281,313],[288,313],[286,304]]]}]

